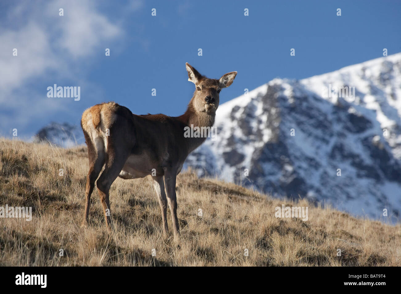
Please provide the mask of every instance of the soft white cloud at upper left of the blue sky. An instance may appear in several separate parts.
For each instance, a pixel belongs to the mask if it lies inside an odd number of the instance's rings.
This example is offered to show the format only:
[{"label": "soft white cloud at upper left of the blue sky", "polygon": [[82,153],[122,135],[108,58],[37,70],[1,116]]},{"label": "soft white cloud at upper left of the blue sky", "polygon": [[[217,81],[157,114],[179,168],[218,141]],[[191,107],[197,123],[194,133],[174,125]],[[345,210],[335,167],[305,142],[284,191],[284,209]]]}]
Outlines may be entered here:
[{"label": "soft white cloud at upper left of the blue sky", "polygon": [[[140,7],[133,3],[130,9]],[[46,87],[36,85],[49,77],[94,88],[85,81],[88,60],[123,36],[121,23],[103,15],[95,0],[23,1],[8,8],[0,20],[0,132],[6,135],[12,125],[62,111],[65,103],[43,99]],[[13,48],[18,56],[12,55]]]}]

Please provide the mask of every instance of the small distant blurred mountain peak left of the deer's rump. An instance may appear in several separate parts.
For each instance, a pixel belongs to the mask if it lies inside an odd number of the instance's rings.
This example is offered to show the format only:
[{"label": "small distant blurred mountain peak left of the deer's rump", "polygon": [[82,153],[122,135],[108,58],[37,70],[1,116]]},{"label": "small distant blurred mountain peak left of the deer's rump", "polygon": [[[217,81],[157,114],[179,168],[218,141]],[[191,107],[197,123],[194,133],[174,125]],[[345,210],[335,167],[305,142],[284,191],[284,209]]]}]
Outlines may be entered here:
[{"label": "small distant blurred mountain peak left of the deer's rump", "polygon": [[35,135],[35,141],[50,142],[64,148],[85,143],[81,127],[55,122],[40,129]]}]

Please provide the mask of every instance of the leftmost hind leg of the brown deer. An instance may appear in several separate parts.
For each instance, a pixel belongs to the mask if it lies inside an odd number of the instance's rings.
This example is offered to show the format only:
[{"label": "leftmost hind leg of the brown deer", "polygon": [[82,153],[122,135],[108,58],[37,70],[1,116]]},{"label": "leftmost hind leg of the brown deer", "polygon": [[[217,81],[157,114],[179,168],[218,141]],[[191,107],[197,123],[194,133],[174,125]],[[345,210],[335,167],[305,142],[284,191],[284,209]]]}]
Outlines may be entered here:
[{"label": "leftmost hind leg of the brown deer", "polygon": [[98,149],[96,149],[91,138],[85,131],[84,135],[85,135],[86,145],[88,146],[89,171],[86,176],[85,211],[81,227],[86,226],[88,223],[89,208],[91,205],[91,195],[93,192],[93,188],[95,187],[95,181],[99,176],[99,173],[105,162],[103,142],[99,142],[99,144],[97,144]]}]

